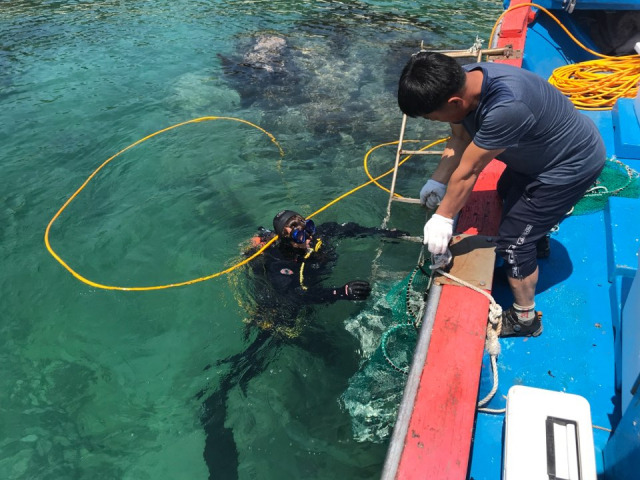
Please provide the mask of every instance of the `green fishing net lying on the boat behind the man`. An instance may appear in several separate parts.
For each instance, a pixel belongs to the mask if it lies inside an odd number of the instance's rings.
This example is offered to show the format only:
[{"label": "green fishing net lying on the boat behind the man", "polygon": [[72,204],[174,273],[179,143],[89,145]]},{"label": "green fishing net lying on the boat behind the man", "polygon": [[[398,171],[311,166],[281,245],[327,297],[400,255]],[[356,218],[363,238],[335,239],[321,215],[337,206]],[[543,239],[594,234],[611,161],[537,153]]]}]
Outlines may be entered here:
[{"label": "green fishing net lying on the boat behind the man", "polygon": [[576,204],[572,215],[603,210],[607,199],[613,195],[618,197],[640,197],[640,178],[638,172],[620,160],[612,157],[607,160],[595,185]]}]

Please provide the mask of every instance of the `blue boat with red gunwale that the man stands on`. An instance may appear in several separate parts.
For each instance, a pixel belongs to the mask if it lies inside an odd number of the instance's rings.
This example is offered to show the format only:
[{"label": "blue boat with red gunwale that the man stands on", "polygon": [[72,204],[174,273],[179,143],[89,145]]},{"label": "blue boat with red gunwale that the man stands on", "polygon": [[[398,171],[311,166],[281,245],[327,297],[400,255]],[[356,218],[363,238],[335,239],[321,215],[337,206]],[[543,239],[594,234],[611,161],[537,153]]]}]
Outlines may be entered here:
[{"label": "blue boat with red gunwale that the man stands on", "polygon": [[[475,289],[441,278],[429,291],[382,478],[637,479],[640,1],[512,0],[505,8],[479,55],[571,95],[599,128],[609,161],[539,262],[543,335],[500,339],[491,353],[487,311],[510,294],[493,257],[483,263],[486,252],[478,253],[487,250],[479,240],[495,234],[500,208],[499,162],[483,172],[456,230],[476,251],[466,277]],[[618,66],[624,70],[610,92],[564,85],[594,60],[584,76],[613,81]],[[621,183],[613,185],[616,175]]]}]

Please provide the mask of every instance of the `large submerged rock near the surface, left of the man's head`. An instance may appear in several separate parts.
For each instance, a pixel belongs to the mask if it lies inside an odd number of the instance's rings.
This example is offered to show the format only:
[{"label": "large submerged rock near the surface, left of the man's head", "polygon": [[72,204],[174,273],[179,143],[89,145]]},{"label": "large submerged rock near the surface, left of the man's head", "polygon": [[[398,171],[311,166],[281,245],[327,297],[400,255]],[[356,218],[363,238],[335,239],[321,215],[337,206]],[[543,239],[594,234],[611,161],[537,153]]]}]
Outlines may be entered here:
[{"label": "large submerged rock near the surface, left of the man's head", "polygon": [[224,80],[240,96],[242,108],[261,112],[273,133],[308,134],[329,144],[387,137],[386,112],[398,111],[393,91],[405,45],[372,46],[385,56],[384,72],[372,69],[362,39],[345,36],[338,24],[321,33],[268,32],[242,38],[228,57],[219,55]]}]

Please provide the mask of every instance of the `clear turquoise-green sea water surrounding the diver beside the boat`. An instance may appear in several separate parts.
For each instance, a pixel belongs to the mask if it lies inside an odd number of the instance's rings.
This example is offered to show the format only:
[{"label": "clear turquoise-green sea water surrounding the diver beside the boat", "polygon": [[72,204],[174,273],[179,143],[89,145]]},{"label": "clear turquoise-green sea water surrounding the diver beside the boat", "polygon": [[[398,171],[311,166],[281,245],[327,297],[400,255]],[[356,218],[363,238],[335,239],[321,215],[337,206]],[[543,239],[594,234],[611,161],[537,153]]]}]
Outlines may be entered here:
[{"label": "clear turquoise-green sea water surrounding the diver beside the boat", "polygon": [[[221,271],[278,210],[310,214],[367,181],[365,153],[398,136],[394,93],[408,56],[421,41],[467,48],[487,38],[501,8],[1,2],[0,478],[377,478],[403,378],[367,360],[393,323],[385,295],[419,246],[343,241],[330,283],[368,279],[372,297],[313,308],[298,337],[257,344],[243,322],[256,288],[244,270],[108,291],[64,270],[44,231],[94,169],[136,140],[193,118],[241,118],[274,135],[284,156],[243,123],[176,128],[106,166],[50,235],[101,284]],[[246,55],[265,35],[286,44],[256,62]],[[408,136],[445,132],[412,122]],[[394,154],[377,150],[372,173]],[[415,197],[432,167],[408,162],[400,193]],[[369,186],[316,220],[378,226],[386,203]],[[423,219],[396,204],[391,226],[420,235]],[[213,418],[207,429],[203,418]]]}]

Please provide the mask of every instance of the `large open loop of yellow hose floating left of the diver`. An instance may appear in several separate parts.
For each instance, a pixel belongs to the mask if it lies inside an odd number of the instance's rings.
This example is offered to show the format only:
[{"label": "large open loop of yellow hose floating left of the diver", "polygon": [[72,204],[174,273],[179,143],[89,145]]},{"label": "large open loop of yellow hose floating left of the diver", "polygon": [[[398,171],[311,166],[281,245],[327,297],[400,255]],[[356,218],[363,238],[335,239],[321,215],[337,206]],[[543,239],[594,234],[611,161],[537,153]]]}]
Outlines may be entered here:
[{"label": "large open loop of yellow hose floating left of the diver", "polygon": [[265,135],[267,135],[271,139],[271,141],[278,147],[278,150],[280,151],[280,156],[284,156],[284,151],[282,150],[282,147],[280,146],[280,144],[278,143],[278,141],[276,140],[276,138],[273,135],[271,135],[269,132],[264,130],[262,127],[259,127],[258,125],[255,125],[255,124],[253,124],[251,122],[248,122],[247,120],[243,120],[241,118],[234,118],[234,117],[200,117],[200,118],[194,118],[193,120],[188,120],[186,122],[178,123],[176,125],[172,125],[172,126],[167,127],[167,128],[163,128],[162,130],[158,130],[157,132],[152,133],[151,135],[147,135],[146,137],[141,138],[137,142],[132,143],[128,147],[123,148],[118,153],[116,153],[112,157],[109,157],[107,160],[105,160],[102,163],[102,165],[100,165],[98,168],[96,168],[93,171],[93,173],[91,175],[89,175],[89,177],[84,181],[84,183],[82,185],[80,185],[80,188],[78,188],[74,192],[74,194],[71,195],[71,197],[69,197],[69,199],[64,203],[64,205],[62,205],[62,207],[60,207],[60,210],[58,210],[58,212],[53,216],[53,218],[51,219],[51,221],[47,225],[47,229],[44,232],[44,243],[45,243],[45,245],[47,247],[47,250],[53,256],[53,258],[55,258],[58,261],[58,263],[60,263],[60,265],[62,265],[64,268],[66,268],[69,271],[69,273],[71,273],[71,275],[73,275],[75,278],[77,278],[81,282],[86,283],[87,285],[90,285],[92,287],[101,288],[103,290],[123,290],[123,291],[138,291],[139,292],[139,291],[148,291],[148,290],[163,290],[163,289],[173,288],[173,287],[182,287],[182,286],[185,286],[185,285],[192,285],[194,283],[204,282],[205,280],[211,280],[212,278],[219,277],[221,275],[229,273],[232,270],[235,270],[236,268],[241,267],[242,265],[245,265],[245,264],[249,263],[251,260],[253,260],[257,256],[261,255],[262,252],[264,252],[273,242],[275,242],[278,237],[272,238],[262,248],[260,248],[260,250],[258,250],[256,253],[254,253],[250,257],[244,259],[243,261],[241,261],[239,263],[236,263],[235,265],[227,268],[226,270],[222,270],[220,272],[213,273],[213,274],[207,275],[205,277],[195,278],[193,280],[187,280],[187,281],[184,281],[184,282],[170,283],[170,284],[167,284],[167,285],[153,285],[153,286],[149,286],[149,287],[119,287],[119,286],[115,286],[115,285],[104,285],[104,284],[97,283],[97,282],[94,282],[92,280],[89,280],[88,278],[83,277],[78,272],[76,272],[73,268],[71,268],[53,250],[53,248],[51,247],[51,244],[49,243],[49,232],[51,230],[51,226],[53,225],[53,223],[58,219],[58,217],[65,210],[65,208],[67,208],[69,206],[69,204],[78,196],[78,194],[89,184],[89,182],[93,179],[93,177],[95,177],[98,174],[98,172],[100,170],[102,170],[104,167],[106,167],[112,160],[114,160],[116,157],[118,157],[122,153],[126,152],[127,150],[130,150],[131,148],[133,148],[133,147],[135,147],[137,145],[140,145],[142,142],[145,142],[145,141],[149,140],[150,138],[155,137],[156,135],[160,135],[161,133],[168,132],[169,130],[173,130],[174,128],[182,127],[182,126],[188,125],[190,123],[206,122],[206,121],[210,121],[210,120],[230,120],[230,121],[234,121],[234,122],[244,123],[244,124],[249,125],[249,126],[251,126],[253,128],[256,128],[256,129],[260,130],[262,133],[264,133]]}]

